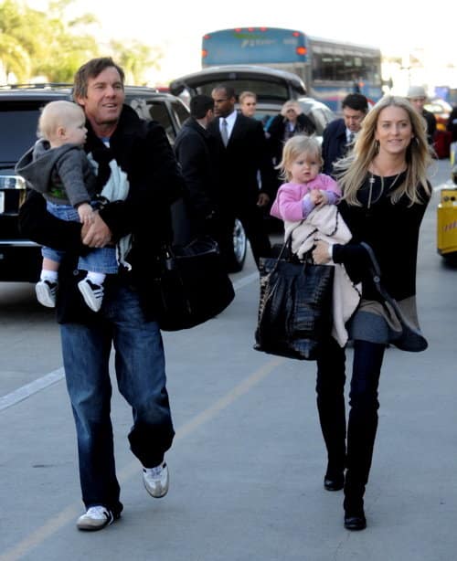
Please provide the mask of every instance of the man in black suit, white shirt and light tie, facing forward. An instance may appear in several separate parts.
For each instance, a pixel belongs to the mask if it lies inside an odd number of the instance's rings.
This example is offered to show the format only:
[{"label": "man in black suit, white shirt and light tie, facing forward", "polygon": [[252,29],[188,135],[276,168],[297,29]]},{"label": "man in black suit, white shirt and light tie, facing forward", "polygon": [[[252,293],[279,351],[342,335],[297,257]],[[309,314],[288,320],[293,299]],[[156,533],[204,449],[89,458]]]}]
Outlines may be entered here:
[{"label": "man in black suit, white shirt and light tie, facing forward", "polygon": [[238,217],[259,265],[260,257],[271,253],[263,218],[263,210],[270,203],[275,189],[267,141],[261,122],[235,111],[235,90],[229,84],[216,86],[211,97],[217,117],[209,124],[208,132],[217,143],[222,230],[218,242],[222,254],[228,255],[232,250],[233,222]]}]

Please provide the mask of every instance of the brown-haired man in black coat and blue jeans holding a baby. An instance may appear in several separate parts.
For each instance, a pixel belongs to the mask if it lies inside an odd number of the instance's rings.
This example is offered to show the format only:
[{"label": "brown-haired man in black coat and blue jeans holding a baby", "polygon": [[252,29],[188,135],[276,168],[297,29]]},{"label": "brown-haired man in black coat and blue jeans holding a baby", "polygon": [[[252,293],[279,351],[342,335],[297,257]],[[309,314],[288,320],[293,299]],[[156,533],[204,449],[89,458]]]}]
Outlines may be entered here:
[{"label": "brown-haired man in black coat and blue jeans holding a baby", "polygon": [[[97,164],[100,185],[110,176],[126,175],[126,200],[107,203],[82,230],[79,223],[49,215],[44,199],[33,192],[20,215],[27,237],[66,249],[68,255],[59,270],[57,308],[87,509],[77,521],[80,530],[100,530],[122,512],[110,418],[112,345],[118,387],[133,410],[131,450],[143,465],[143,484],[153,497],[168,490],[164,457],[175,434],[150,270],[161,242],[171,236],[170,205],[181,196],[184,180],[164,129],[146,124],[123,105],[123,83],[123,71],[112,58],[94,58],[77,71],[73,97],[86,115],[85,150]],[[132,269],[121,266],[118,274],[107,276],[101,311],[91,312],[77,290],[78,254],[126,234],[133,235],[127,256]]]}]

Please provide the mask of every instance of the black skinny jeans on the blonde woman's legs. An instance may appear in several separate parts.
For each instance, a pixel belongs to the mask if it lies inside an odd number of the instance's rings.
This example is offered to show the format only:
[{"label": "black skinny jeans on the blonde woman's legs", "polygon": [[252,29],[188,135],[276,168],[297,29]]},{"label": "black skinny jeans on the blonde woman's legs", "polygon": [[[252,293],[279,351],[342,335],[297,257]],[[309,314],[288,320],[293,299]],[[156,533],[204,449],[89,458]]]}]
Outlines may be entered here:
[{"label": "black skinny jeans on the blonde woman's legs", "polygon": [[377,432],[377,386],[384,344],[354,342],[349,393],[349,422],[345,425],[345,349],[333,338],[317,359],[317,409],[328,454],[330,474],[347,469],[345,493],[363,496]]}]

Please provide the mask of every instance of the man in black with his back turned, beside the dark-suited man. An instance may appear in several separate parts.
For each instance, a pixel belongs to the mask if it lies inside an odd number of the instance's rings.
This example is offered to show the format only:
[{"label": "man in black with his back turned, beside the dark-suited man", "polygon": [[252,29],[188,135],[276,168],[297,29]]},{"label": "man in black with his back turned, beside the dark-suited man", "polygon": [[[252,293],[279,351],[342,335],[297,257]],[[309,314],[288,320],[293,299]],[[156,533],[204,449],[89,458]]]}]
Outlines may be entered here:
[{"label": "man in black with his back turned, beside the dark-suited man", "polygon": [[175,139],[175,155],[186,180],[197,233],[212,236],[218,211],[215,143],[207,132],[214,119],[213,98],[198,94],[190,100],[189,108],[190,117]]}]

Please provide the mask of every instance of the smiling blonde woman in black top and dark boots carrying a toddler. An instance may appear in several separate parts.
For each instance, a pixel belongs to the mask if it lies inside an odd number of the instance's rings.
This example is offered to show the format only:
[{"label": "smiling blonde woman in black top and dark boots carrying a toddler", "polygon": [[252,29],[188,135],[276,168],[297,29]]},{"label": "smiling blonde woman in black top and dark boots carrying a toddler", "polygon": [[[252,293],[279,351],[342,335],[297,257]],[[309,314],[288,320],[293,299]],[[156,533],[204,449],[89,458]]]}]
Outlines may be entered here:
[{"label": "smiling blonde woman in black top and dark boots carrying a toddler", "polygon": [[385,97],[368,112],[354,152],[337,166],[343,200],[339,205],[353,238],[330,247],[318,241],[314,260],[343,263],[362,282],[361,302],[348,324],[354,343],[345,442],[345,350],[330,339],[317,360],[317,408],[328,454],[324,487],[345,489],[345,528],[367,521],[364,492],[377,431],[377,386],[384,351],[395,344],[399,324],[382,306],[369,273],[365,242],[374,250],[383,285],[411,323],[416,312],[416,261],[420,222],[430,200],[431,162],[425,123],[404,98]]}]

